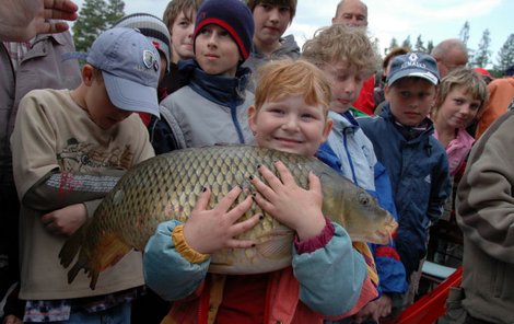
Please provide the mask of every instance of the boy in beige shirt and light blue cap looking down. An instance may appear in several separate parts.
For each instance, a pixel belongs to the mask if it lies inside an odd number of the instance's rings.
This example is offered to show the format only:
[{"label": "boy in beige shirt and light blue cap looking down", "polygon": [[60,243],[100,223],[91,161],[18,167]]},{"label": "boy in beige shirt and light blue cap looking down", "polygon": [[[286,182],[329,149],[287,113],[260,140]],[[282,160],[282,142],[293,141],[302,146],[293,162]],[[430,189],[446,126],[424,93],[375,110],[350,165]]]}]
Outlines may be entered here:
[{"label": "boy in beige shirt and light blue cap looking down", "polygon": [[159,115],[155,47],[138,31],[98,36],[74,90],[34,90],[20,103],[11,137],[21,200],[21,289],[25,322],[130,321],[144,284],[141,255],[130,253],[95,290],[79,274],[68,284],[58,254],[121,174],[154,155],[132,112]]}]

